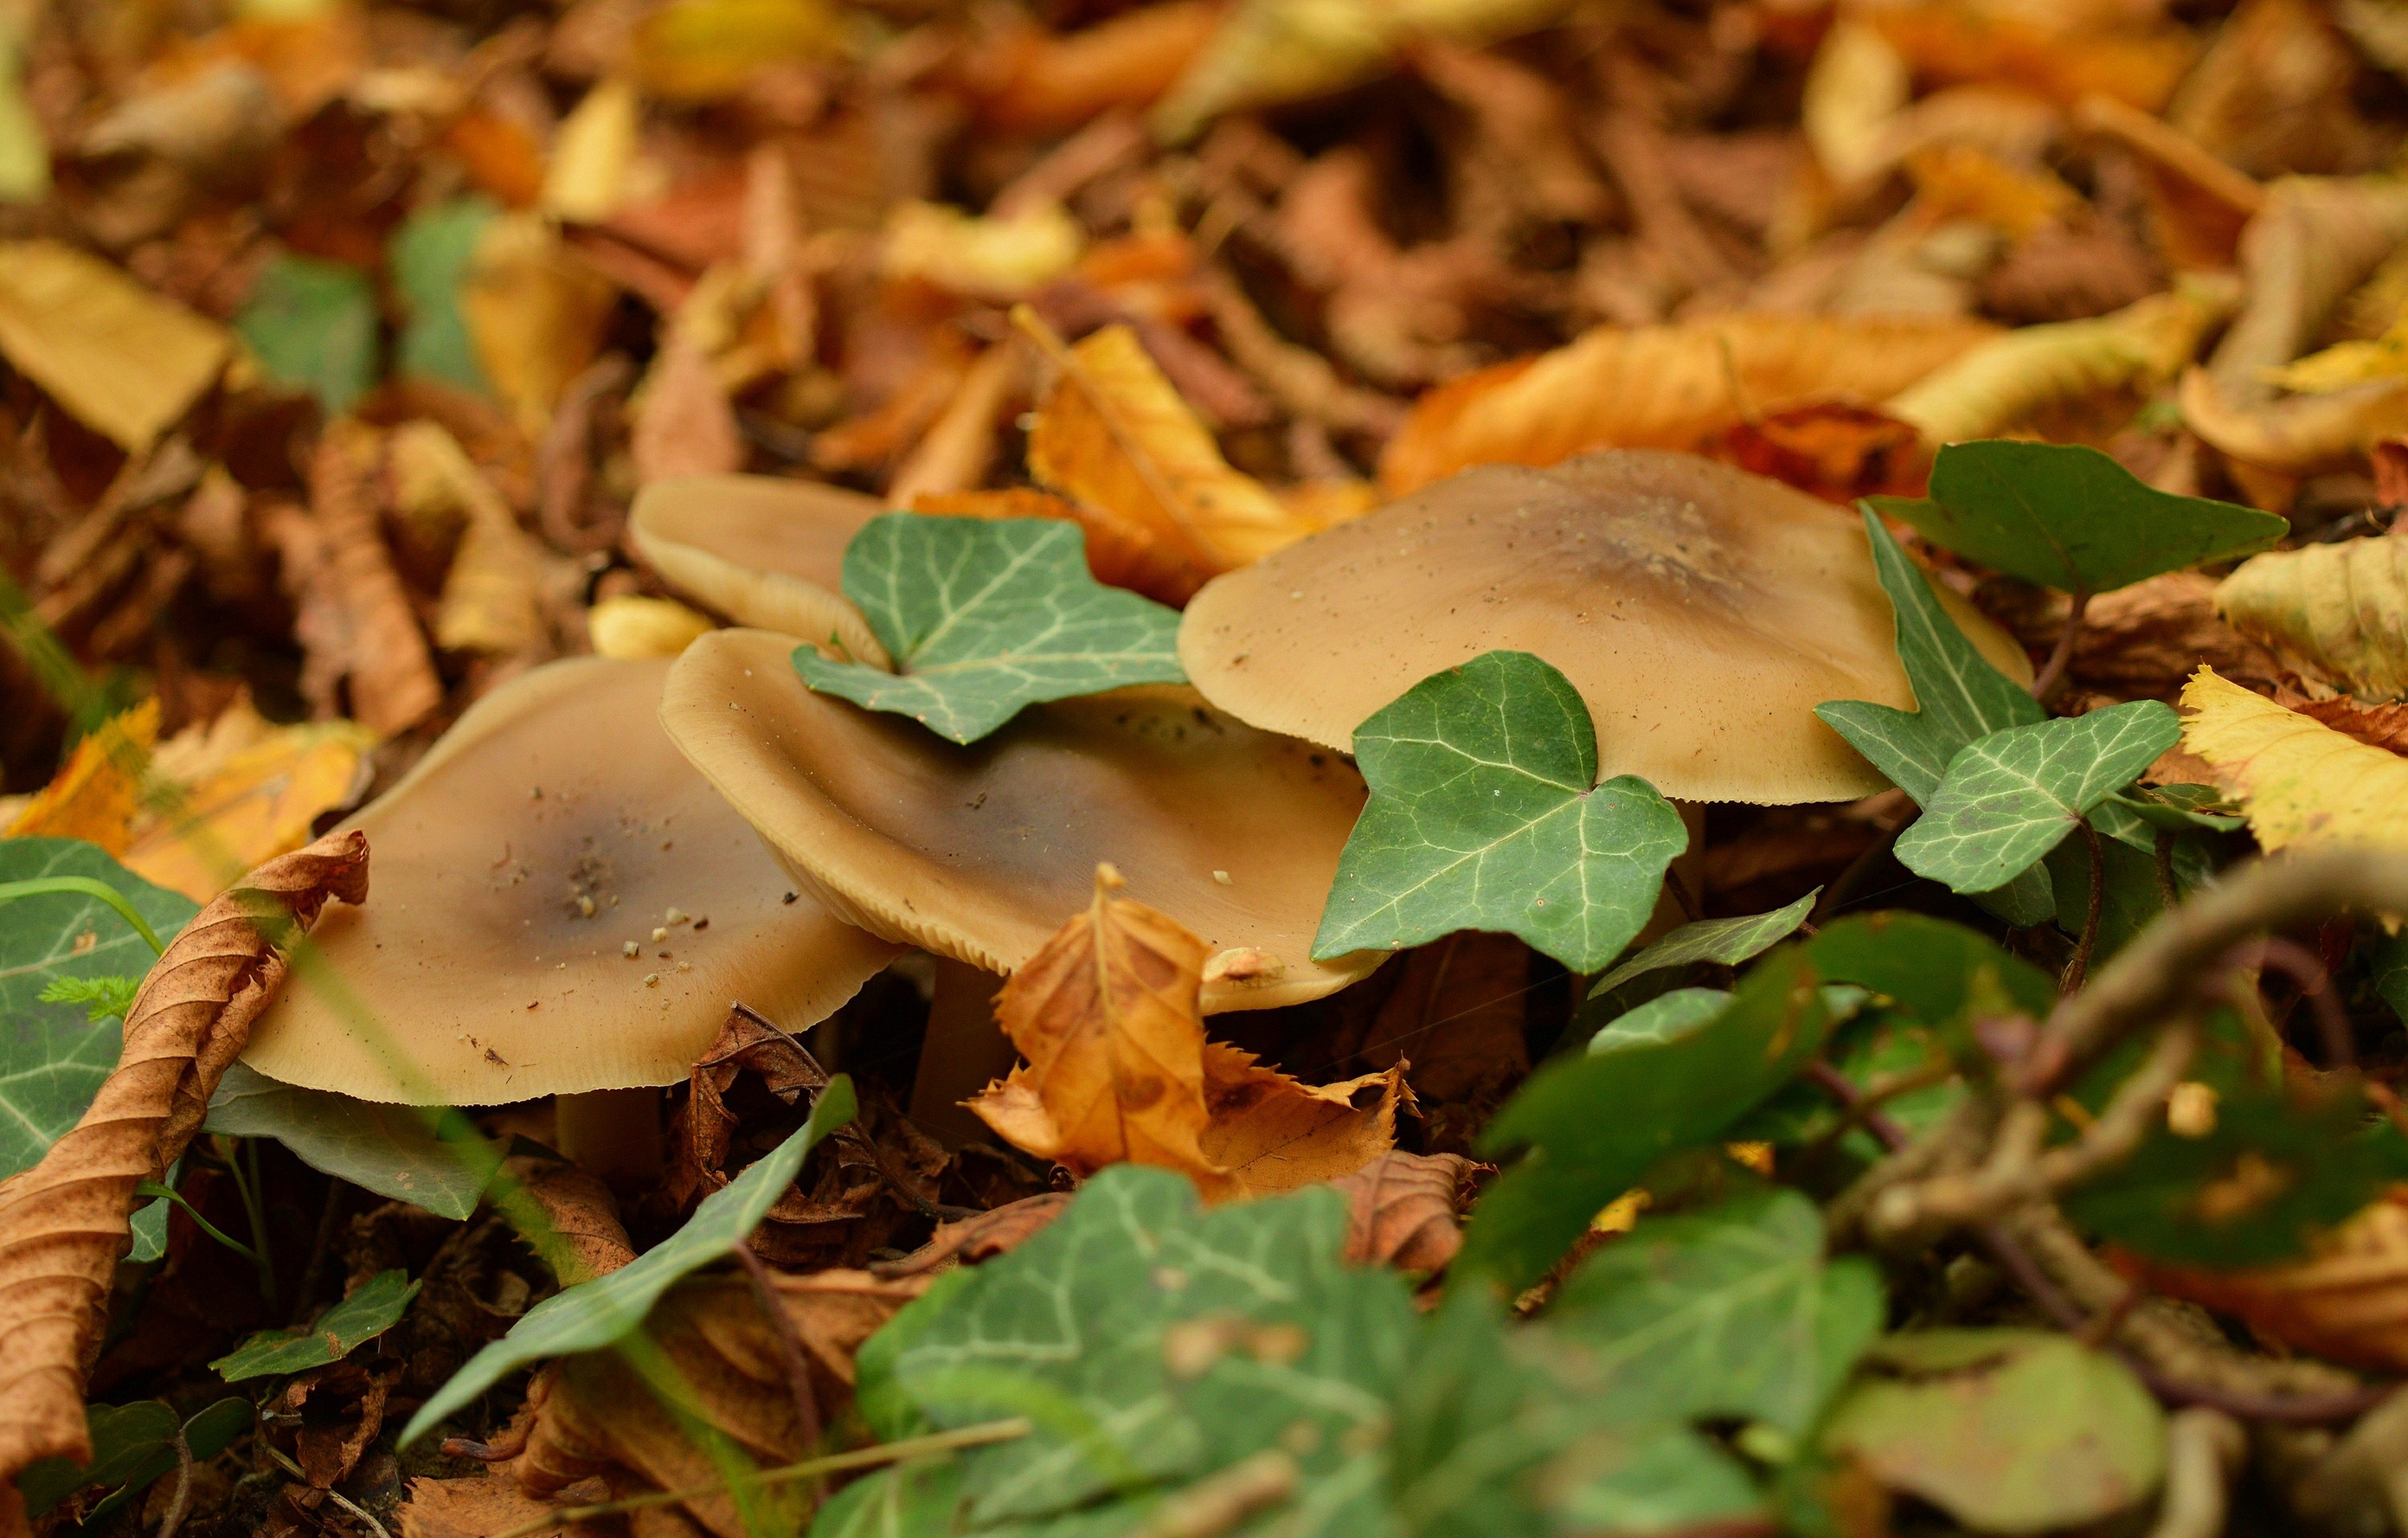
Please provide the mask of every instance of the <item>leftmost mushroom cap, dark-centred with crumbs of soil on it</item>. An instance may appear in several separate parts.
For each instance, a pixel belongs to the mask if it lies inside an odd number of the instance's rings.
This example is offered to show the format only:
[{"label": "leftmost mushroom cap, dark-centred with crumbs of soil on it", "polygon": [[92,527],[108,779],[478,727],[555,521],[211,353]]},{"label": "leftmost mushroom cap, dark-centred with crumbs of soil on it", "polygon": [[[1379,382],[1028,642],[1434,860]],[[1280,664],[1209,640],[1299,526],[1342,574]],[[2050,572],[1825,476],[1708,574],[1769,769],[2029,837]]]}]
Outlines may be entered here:
[{"label": "leftmost mushroom cap, dark-centred with crumbs of soil on it", "polygon": [[356,1099],[482,1106],[669,1085],[732,1000],[804,1029],[852,998],[896,947],[785,902],[795,885],[660,730],[667,673],[551,663],[460,716],[347,822],[376,890],[311,933],[373,1025],[303,971],[243,1061]]}]

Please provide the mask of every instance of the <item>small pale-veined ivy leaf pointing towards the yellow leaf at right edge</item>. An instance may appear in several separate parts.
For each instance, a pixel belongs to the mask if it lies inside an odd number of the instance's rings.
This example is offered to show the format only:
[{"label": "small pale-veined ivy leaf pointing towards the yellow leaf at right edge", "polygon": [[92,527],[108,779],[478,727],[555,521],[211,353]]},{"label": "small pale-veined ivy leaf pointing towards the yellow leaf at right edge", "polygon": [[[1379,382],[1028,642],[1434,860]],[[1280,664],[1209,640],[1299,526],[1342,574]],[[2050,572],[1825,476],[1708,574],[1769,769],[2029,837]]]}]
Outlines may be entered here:
[{"label": "small pale-veined ivy leaf pointing towards the yellow leaf at right edge", "polygon": [[1958,892],[2001,887],[2179,740],[2160,699],[1991,733],[1948,762],[1898,861]]}]

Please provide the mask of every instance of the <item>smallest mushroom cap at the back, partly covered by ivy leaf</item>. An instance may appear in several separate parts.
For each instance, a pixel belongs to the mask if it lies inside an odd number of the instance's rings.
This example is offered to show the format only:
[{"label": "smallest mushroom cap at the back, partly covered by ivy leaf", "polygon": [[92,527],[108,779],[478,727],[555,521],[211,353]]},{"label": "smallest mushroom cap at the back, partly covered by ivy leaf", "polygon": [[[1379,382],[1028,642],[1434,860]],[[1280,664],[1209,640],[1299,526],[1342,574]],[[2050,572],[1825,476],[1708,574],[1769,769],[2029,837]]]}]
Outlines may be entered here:
[{"label": "smallest mushroom cap at the back, partly covered by ivy leaf", "polygon": [[672,588],[737,624],[826,641],[893,665],[845,600],[845,545],[886,511],[877,497],[773,475],[674,475],[636,492],[628,535]]}]

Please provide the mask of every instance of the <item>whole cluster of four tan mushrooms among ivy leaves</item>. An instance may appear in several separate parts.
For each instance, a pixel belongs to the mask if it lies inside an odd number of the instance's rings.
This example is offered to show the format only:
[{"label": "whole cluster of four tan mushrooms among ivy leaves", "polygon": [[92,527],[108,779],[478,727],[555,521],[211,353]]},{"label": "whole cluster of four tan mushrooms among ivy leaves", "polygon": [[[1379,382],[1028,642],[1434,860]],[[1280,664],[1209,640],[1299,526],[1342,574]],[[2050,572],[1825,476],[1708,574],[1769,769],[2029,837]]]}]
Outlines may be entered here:
[{"label": "whole cluster of four tan mushrooms among ivy leaves", "polygon": [[674,661],[554,663],[470,709],[352,820],[376,902],[318,931],[349,986],[291,988],[248,1063],[378,1102],[556,1094],[563,1152],[624,1167],[732,1000],[799,1034],[917,950],[937,998],[913,1114],[961,1135],[975,1123],[946,1111],[1011,1063],[995,986],[1086,906],[1098,863],[1211,945],[1206,1015],[1370,974],[1385,952],[1310,955],[1365,800],[1346,755],[1433,673],[1548,661],[1592,711],[1601,779],[1676,803],[1878,791],[1813,706],[1914,704],[1857,518],[1613,451],[1469,470],[1228,571],[1180,622],[1190,685],[1035,704],[956,745],[790,663],[797,636],[886,661],[840,583],[881,511],[766,477],[648,487],[638,552],[737,627]]}]

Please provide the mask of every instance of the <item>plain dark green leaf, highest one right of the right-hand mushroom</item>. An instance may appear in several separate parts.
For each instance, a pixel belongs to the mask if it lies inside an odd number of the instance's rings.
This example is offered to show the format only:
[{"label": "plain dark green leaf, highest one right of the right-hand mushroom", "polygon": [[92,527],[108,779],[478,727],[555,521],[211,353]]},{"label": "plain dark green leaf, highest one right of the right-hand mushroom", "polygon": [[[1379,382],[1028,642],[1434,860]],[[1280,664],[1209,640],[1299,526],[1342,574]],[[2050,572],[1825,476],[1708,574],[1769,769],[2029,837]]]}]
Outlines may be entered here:
[{"label": "plain dark green leaf, highest one right of the right-hand mushroom", "polygon": [[1929,499],[1873,501],[1934,545],[2064,593],[2107,593],[2290,533],[2273,513],[2160,492],[2081,444],[1948,444]]}]

